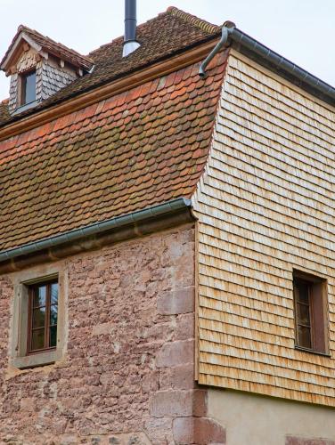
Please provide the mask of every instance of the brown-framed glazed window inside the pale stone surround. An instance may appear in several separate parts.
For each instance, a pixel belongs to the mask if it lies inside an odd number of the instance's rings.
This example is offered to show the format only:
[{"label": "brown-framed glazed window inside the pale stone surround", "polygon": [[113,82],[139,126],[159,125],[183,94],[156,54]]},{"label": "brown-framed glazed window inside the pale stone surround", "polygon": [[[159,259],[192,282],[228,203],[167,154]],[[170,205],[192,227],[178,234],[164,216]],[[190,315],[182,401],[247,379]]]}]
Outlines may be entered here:
[{"label": "brown-framed glazed window inside the pale stone surround", "polygon": [[58,281],[29,286],[27,353],[57,346]]}]

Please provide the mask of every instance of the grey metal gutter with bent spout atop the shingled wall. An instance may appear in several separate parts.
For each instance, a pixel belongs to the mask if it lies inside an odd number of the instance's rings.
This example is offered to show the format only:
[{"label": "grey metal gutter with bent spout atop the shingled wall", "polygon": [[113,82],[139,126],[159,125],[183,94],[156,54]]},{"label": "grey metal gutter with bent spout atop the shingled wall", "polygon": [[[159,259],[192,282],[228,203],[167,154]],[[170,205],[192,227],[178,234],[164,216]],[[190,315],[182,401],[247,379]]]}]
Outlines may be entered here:
[{"label": "grey metal gutter with bent spout atop the shingled wall", "polygon": [[220,51],[220,49],[232,43],[233,47],[240,53],[244,53],[250,59],[256,60],[261,65],[276,72],[290,82],[335,105],[335,88],[313,76],[305,69],[298,67],[280,54],[275,53],[264,44],[257,42],[240,29],[236,28],[233,22],[225,22],[222,28],[222,37],[217,46],[209,53],[207,59],[200,65],[200,77],[206,76],[206,68],[209,61]]}]

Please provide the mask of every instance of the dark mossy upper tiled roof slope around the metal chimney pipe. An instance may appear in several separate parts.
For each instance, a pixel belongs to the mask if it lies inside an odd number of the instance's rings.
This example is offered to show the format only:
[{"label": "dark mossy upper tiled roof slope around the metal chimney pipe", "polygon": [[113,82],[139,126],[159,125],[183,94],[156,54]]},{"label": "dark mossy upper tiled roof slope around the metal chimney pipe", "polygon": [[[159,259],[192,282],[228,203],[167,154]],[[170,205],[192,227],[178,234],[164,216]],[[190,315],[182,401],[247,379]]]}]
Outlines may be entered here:
[{"label": "dark mossy upper tiled roof slope around the metal chimney pipe", "polygon": [[167,12],[137,27],[137,39],[141,46],[135,53],[122,58],[123,36],[102,45],[88,54],[89,59],[94,61],[94,70],[91,74],[78,78],[34,109],[15,117],[8,115],[7,118],[2,119],[0,115],[0,126],[69,99],[78,93],[106,84],[118,77],[126,77],[136,69],[141,69],[154,61],[164,60],[174,53],[183,52],[196,44],[219,36],[220,33],[220,27],[175,7],[169,7]]}]

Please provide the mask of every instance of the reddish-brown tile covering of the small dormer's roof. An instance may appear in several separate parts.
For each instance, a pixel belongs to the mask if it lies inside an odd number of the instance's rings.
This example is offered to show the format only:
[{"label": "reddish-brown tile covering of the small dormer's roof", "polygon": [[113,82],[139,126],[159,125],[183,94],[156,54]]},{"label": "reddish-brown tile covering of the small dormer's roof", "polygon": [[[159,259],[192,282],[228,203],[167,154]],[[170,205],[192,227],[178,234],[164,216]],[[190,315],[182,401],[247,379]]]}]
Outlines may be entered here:
[{"label": "reddish-brown tile covering of the small dormer's roof", "polygon": [[70,63],[72,63],[77,67],[88,70],[91,69],[94,64],[94,61],[92,61],[92,59],[90,59],[89,57],[79,54],[77,51],[68,48],[64,44],[55,42],[50,37],[43,36],[35,29],[31,29],[24,25],[20,25],[16,35],[12,39],[12,44],[10,44],[7,52],[4,54],[3,60],[0,62],[0,66],[3,64],[7,55],[11,52],[12,45],[15,43],[17,37],[20,36],[21,33],[26,34],[32,40],[34,40],[37,44],[39,44],[42,47],[42,49],[45,50],[46,53],[50,53],[53,54],[54,56],[63,58],[65,61],[69,61]]}]

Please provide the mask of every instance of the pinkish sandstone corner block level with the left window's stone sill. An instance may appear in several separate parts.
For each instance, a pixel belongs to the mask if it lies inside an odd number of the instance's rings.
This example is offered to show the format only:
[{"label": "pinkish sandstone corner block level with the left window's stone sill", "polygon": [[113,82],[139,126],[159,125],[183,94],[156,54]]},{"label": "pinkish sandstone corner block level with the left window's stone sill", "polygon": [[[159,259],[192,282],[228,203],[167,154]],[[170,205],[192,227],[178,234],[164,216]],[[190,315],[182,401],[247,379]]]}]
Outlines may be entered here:
[{"label": "pinkish sandstone corner block level with the left window's stone sill", "polygon": [[168,368],[194,362],[194,341],[183,340],[163,344],[157,354],[156,366]]}]

